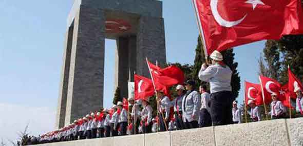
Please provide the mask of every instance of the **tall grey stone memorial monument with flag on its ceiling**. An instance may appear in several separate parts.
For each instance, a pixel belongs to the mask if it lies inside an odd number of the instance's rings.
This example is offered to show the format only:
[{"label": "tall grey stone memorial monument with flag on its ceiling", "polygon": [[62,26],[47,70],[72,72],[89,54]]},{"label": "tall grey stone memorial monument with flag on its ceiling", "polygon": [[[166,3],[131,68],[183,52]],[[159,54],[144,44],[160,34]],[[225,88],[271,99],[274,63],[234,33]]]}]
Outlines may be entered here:
[{"label": "tall grey stone memorial monument with flag on its ceiling", "polygon": [[127,82],[133,80],[134,72],[149,76],[145,57],[160,65],[166,62],[162,2],[73,1],[67,18],[56,128],[103,107],[105,38],[116,39],[115,87],[127,97]]}]

